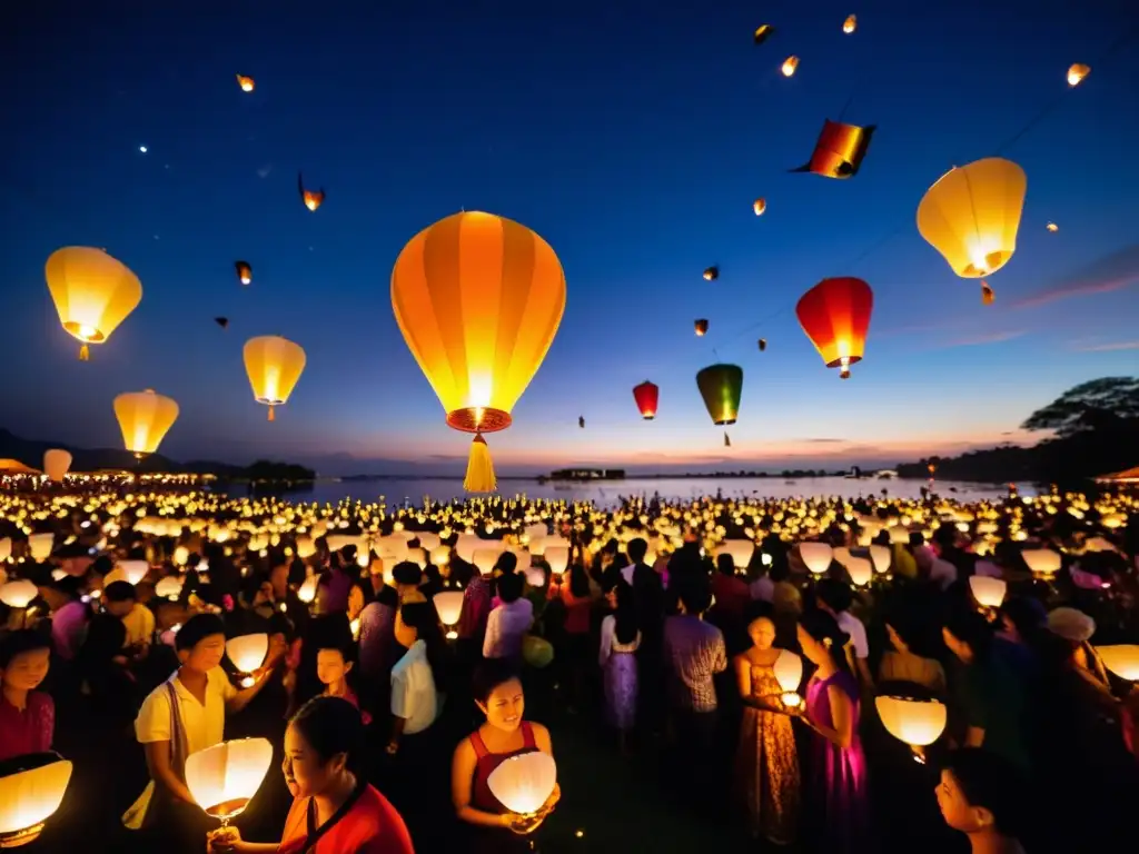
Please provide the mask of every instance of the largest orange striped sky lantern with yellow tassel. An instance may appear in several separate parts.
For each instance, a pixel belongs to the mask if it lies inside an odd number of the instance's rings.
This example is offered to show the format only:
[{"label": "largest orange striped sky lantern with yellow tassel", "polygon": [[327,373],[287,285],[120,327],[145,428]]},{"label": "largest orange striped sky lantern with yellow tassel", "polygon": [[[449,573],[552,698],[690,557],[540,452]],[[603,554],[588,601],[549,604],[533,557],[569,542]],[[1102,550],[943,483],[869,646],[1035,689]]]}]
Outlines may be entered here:
[{"label": "largest orange striped sky lantern with yellow tassel", "polygon": [[478,211],[420,231],[392,270],[392,309],[446,422],[474,433],[464,488],[492,492],[484,433],[510,411],[554,343],[566,305],[562,262],[525,225]]}]

